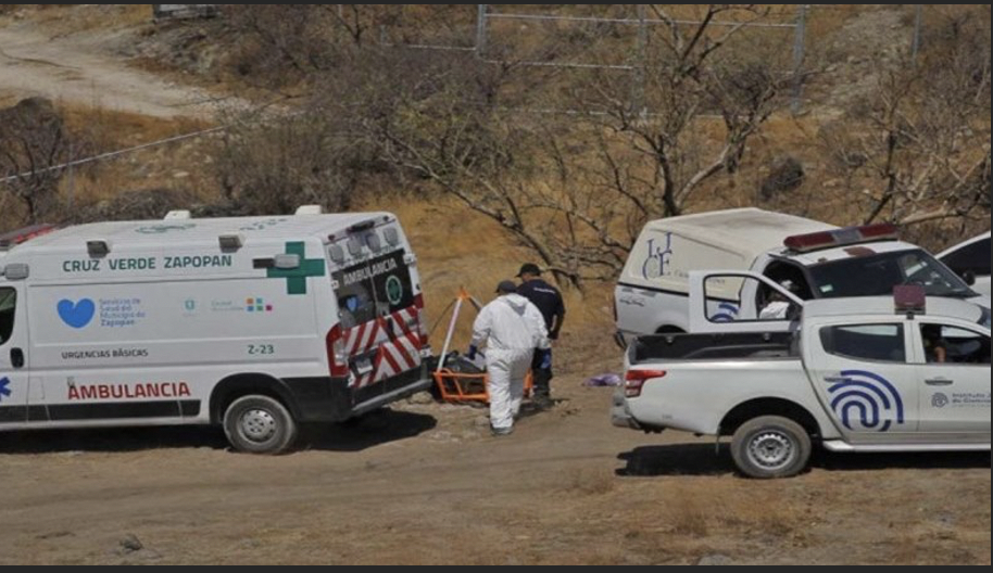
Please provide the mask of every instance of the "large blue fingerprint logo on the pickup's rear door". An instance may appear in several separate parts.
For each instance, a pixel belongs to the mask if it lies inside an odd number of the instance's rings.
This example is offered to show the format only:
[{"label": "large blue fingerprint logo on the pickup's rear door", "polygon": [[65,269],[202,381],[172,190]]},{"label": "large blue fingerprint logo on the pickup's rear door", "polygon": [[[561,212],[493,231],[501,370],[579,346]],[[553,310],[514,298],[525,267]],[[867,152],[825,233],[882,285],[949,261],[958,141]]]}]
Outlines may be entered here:
[{"label": "large blue fingerprint logo on the pickup's rear door", "polygon": [[842,425],[855,430],[889,432],[904,423],[903,398],[889,380],[864,370],[845,370],[842,380],[828,389],[831,409]]}]

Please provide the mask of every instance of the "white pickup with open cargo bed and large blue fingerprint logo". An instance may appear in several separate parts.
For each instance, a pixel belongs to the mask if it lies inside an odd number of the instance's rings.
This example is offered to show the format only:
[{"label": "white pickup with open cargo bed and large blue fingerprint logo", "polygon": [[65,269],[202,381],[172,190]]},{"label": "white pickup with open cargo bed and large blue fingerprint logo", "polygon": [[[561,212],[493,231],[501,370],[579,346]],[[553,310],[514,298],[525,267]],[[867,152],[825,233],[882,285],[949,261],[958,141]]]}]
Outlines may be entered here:
[{"label": "white pickup with open cargo bed and large blue fingerprint logo", "polygon": [[[791,320],[716,322],[711,286],[756,280]],[[759,275],[694,272],[693,334],[636,339],[613,423],[732,436],[739,470],[784,478],[831,451],[990,449],[990,311],[954,298],[802,302]],[[726,286],[726,285],[725,285]],[[906,290],[906,289],[901,289]],[[913,296],[912,296],[913,297]]]}]

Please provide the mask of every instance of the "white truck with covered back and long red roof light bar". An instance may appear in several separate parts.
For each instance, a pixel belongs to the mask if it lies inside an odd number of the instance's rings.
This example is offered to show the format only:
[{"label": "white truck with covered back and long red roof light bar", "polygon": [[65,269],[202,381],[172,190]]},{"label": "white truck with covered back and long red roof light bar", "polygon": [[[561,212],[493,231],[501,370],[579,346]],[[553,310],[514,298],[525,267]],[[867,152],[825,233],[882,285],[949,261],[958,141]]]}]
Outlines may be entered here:
[{"label": "white truck with covered back and long red roof light bar", "polygon": [[[617,343],[624,347],[632,336],[688,332],[689,273],[713,268],[792,284],[804,301],[882,296],[894,285],[916,283],[928,296],[990,308],[988,295],[927,251],[901,241],[892,225],[842,229],[757,208],[716,211],[645,225],[614,294]],[[747,320],[765,306],[766,294],[746,285],[715,293],[712,302],[721,320]]]}]

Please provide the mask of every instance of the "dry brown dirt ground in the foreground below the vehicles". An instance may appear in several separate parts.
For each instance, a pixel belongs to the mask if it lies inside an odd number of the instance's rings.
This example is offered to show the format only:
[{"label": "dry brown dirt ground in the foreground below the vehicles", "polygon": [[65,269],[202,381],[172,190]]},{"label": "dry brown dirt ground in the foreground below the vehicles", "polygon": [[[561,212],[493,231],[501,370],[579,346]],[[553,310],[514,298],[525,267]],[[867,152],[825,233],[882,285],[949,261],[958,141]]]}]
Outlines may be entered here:
[{"label": "dry brown dirt ground in the foreground below the vehicles", "polygon": [[0,434],[0,564],[990,564],[989,454],[749,481],[711,441],[612,428],[582,379],[500,438],[423,399],[280,457],[215,429]]}]

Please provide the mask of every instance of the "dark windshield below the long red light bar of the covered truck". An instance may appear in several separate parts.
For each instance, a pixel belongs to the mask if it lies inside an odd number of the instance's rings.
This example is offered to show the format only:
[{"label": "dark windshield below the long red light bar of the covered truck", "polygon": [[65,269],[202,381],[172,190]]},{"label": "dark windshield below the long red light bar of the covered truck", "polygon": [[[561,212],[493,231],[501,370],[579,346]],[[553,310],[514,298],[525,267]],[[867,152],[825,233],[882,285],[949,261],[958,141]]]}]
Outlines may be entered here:
[{"label": "dark windshield below the long red light bar of the covered truck", "polygon": [[809,271],[824,298],[889,296],[897,284],[919,284],[928,296],[976,296],[961,278],[919,249],[822,263]]}]

